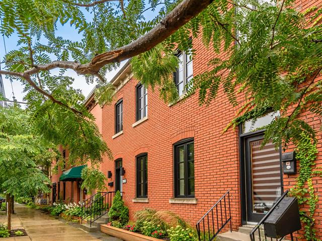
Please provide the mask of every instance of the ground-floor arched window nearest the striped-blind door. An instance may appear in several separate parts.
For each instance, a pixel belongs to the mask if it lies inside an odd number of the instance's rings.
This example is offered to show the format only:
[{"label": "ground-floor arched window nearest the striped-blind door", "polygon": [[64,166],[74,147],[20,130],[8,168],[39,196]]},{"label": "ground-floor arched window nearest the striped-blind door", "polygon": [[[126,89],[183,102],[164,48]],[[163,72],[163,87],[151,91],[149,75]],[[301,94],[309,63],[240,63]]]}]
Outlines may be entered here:
[{"label": "ground-floor arched window nearest the striped-blind door", "polygon": [[195,197],[194,141],[185,139],[175,145],[175,197]]}]

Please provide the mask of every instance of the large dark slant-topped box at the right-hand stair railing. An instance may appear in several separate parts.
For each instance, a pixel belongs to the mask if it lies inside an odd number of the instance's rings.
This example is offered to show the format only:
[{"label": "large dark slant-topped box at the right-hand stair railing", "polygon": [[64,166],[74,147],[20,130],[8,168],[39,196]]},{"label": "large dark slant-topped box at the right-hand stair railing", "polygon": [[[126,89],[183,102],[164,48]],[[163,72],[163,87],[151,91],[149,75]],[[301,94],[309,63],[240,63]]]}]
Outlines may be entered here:
[{"label": "large dark slant-topped box at the right-hand stair railing", "polygon": [[264,221],[266,235],[280,238],[301,229],[297,199],[284,197]]}]

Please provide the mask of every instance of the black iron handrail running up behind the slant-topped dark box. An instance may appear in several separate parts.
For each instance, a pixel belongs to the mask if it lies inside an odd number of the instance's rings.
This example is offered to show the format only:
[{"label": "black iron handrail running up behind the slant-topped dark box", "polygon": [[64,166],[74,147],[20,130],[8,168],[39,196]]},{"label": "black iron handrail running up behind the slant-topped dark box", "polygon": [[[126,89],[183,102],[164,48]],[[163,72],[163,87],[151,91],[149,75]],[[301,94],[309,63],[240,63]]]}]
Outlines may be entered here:
[{"label": "black iron handrail running up behind the slant-topped dark box", "polygon": [[[265,214],[265,216],[262,218],[262,220],[256,224],[256,226],[253,228],[253,230],[250,233],[251,241],[281,241],[283,237],[280,238],[272,238],[267,237],[266,230],[264,226],[265,220],[268,218],[268,216],[272,213],[272,211],[275,209],[275,207],[282,201],[284,197],[286,197],[288,194],[288,191],[284,192],[283,195],[277,200],[277,202],[273,205],[273,207]],[[293,234],[290,234],[291,240],[294,240]]]}]

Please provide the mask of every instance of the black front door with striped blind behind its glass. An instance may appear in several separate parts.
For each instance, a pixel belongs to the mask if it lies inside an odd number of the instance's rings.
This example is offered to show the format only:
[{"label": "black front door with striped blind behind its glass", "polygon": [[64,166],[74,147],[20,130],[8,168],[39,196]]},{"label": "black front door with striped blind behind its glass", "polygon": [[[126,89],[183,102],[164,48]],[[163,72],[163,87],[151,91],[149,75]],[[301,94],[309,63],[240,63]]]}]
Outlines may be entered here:
[{"label": "black front door with striped blind behind its glass", "polygon": [[259,222],[282,194],[280,150],[272,142],[261,148],[263,140],[263,134],[244,138],[248,222]]}]

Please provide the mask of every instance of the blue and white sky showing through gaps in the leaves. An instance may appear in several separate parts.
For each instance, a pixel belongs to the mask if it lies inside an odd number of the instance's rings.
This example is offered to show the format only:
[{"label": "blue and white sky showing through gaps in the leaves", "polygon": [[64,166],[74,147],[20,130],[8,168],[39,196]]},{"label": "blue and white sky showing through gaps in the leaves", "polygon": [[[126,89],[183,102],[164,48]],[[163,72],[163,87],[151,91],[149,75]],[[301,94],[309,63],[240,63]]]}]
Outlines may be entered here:
[{"label": "blue and white sky showing through gaps in the leaves", "polygon": [[[147,11],[147,20],[152,18],[154,15],[154,13]],[[74,30],[74,27],[70,27],[68,23],[63,26],[57,24],[57,35],[63,37],[64,39],[69,39],[72,41],[77,41],[82,38],[82,34],[79,35],[77,31]],[[17,35],[12,35],[9,38],[3,36],[0,37],[0,62],[2,62],[6,52],[5,50],[7,50],[8,53],[9,51],[16,49],[19,38]],[[118,69],[109,72],[106,76],[106,79],[111,80],[125,63],[126,61],[121,62],[121,65]],[[1,64],[1,68],[4,69],[4,64]],[[52,71],[52,73],[54,74],[55,71],[58,73],[59,70],[54,70]],[[71,76],[75,79],[74,83],[72,84],[72,87],[76,89],[81,89],[85,97],[89,95],[89,93],[96,85],[96,83],[86,83],[85,77],[82,75],[77,75],[73,70],[67,70],[66,75]],[[5,76],[3,76],[3,82],[5,87],[6,98],[9,100],[13,100],[13,97],[15,96],[16,100],[23,102],[23,98],[26,94],[23,92],[24,85],[20,81],[13,81],[11,85],[10,80],[7,79]]]}]

